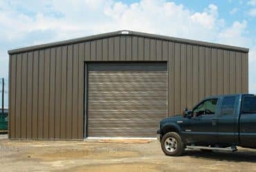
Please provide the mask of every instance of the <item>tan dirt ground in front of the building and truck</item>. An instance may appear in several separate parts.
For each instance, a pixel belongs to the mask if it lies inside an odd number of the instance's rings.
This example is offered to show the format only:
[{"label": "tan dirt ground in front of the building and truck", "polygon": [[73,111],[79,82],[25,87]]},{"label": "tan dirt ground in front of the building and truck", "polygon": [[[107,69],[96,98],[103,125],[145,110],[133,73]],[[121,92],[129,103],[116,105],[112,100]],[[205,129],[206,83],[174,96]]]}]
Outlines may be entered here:
[{"label": "tan dirt ground in front of the building and truck", "polygon": [[0,171],[256,171],[256,151],[186,151],[168,157],[156,140],[27,141],[0,137]]}]

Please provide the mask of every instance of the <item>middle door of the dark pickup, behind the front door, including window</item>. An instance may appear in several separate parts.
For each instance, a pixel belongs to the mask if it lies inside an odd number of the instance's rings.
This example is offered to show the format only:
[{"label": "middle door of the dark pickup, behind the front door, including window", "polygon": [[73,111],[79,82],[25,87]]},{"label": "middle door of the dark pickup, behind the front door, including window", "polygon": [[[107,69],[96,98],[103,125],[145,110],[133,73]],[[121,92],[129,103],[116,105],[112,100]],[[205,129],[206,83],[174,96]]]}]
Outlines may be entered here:
[{"label": "middle door of the dark pickup, behind the front door, including window", "polygon": [[221,112],[217,119],[218,142],[220,144],[239,142],[238,115],[236,115],[239,96],[225,96],[221,103]]}]

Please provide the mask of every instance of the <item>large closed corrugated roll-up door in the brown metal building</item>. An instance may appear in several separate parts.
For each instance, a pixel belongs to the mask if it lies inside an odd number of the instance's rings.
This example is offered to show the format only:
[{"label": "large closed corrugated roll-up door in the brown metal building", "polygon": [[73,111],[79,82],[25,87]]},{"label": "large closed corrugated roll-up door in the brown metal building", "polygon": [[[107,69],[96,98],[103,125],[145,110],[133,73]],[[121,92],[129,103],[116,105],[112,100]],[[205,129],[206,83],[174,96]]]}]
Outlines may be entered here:
[{"label": "large closed corrugated roll-up door in the brown metal building", "polygon": [[89,63],[88,136],[155,137],[167,116],[166,63]]}]

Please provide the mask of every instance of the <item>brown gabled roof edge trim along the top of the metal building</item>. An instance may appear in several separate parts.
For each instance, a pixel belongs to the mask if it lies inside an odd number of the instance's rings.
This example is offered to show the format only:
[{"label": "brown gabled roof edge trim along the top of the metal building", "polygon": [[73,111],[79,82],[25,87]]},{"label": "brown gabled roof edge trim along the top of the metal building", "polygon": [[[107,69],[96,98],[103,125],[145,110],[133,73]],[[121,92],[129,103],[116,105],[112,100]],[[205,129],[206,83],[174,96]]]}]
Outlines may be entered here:
[{"label": "brown gabled roof edge trim along the top of the metal building", "polygon": [[92,36],[85,36],[82,38],[78,39],[70,39],[66,41],[58,41],[55,43],[46,43],[42,45],[35,45],[35,46],[30,46],[30,47],[23,47],[15,50],[9,50],[8,54],[16,54],[20,52],[28,52],[31,50],[39,50],[39,49],[44,49],[48,47],[55,47],[55,46],[60,46],[60,45],[68,45],[68,44],[73,44],[73,43],[82,43],[84,41],[92,41],[95,39],[104,39],[112,36],[120,36],[120,35],[131,35],[131,36],[143,36],[151,39],[161,39],[165,41],[173,41],[173,42],[178,42],[178,43],[188,43],[192,45],[203,45],[205,47],[215,47],[219,49],[224,49],[224,50],[235,50],[239,52],[249,52],[249,49],[246,47],[235,47],[231,45],[223,45],[223,44],[218,44],[218,43],[208,43],[204,41],[194,41],[190,39],[179,39],[171,36],[163,36],[163,35],[158,35],[158,34],[147,34],[143,32],[134,32],[130,30],[120,30],[116,32],[109,32],[105,34],[96,34]]}]

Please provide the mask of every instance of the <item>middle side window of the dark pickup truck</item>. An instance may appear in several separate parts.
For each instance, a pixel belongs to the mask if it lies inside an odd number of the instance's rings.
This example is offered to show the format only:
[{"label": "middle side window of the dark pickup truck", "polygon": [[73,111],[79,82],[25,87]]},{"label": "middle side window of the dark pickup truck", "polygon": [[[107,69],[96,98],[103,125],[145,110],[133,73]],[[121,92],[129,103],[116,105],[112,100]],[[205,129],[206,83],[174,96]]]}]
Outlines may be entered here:
[{"label": "middle side window of the dark pickup truck", "polygon": [[222,115],[233,115],[235,111],[235,96],[228,96],[223,99],[221,106],[221,116]]}]

